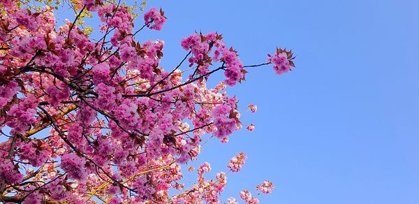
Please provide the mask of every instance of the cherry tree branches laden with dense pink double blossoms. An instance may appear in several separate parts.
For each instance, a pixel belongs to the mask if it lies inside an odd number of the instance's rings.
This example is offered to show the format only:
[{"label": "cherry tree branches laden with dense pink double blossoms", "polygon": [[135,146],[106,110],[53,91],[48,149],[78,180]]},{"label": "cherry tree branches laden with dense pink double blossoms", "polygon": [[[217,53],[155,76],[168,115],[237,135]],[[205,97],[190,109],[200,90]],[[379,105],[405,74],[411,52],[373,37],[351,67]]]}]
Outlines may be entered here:
[{"label": "cherry tree branches laden with dense pink double blossoms", "polygon": [[[163,68],[164,42],[135,39],[143,29],[163,29],[163,10],[103,0],[53,4],[0,1],[0,201],[221,202],[226,175],[240,171],[244,153],[215,178],[205,177],[210,163],[196,169],[193,182],[184,180],[182,167],[208,138],[227,143],[244,126],[226,86],[242,82],[250,67],[290,71],[292,52],[277,48],[266,62],[245,66],[221,34],[193,33],[180,41],[179,62]],[[75,17],[58,24],[57,9]],[[100,24],[83,24],[89,15]],[[101,38],[90,37],[94,27]],[[207,87],[216,72],[225,78]],[[273,188],[265,181],[256,191]],[[250,191],[237,196],[258,203]]]}]

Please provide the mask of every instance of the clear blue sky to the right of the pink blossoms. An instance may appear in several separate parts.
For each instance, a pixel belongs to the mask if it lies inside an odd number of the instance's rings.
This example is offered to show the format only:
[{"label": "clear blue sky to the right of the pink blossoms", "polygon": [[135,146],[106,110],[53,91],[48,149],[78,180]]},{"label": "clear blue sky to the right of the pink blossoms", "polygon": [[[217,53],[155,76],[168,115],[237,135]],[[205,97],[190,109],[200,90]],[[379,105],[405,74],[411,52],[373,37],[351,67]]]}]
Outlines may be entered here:
[{"label": "clear blue sky to the right of the pink blossoms", "polygon": [[[179,41],[219,31],[245,64],[276,46],[292,48],[297,68],[254,68],[230,90],[256,124],[230,143],[213,140],[200,161],[214,173],[235,152],[249,159],[228,177],[223,197],[265,179],[261,203],[419,203],[419,3],[417,1],[148,1],[166,10],[163,65],[183,57]],[[254,191],[254,189],[253,189]]]}]

